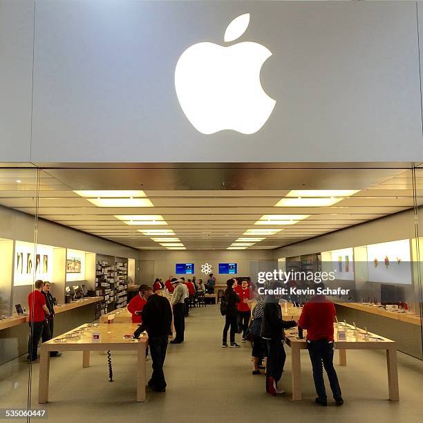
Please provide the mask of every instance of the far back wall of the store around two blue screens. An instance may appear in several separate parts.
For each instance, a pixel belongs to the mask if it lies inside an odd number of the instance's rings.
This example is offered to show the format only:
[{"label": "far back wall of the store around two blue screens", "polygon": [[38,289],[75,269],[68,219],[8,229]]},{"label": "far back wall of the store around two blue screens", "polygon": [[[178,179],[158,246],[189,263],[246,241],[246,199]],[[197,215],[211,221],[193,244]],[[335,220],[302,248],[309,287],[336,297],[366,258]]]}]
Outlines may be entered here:
[{"label": "far back wall of the store around two blue screens", "polygon": [[[213,266],[212,273],[216,276],[217,283],[225,284],[232,275],[218,274],[218,263],[237,263],[238,273],[234,276],[252,277],[259,265],[267,265],[273,261],[272,256],[272,252],[268,250],[142,251],[140,279],[142,283],[153,283],[156,278],[162,278],[164,282],[170,275],[175,276],[176,263],[194,263],[195,276],[204,280],[208,274],[201,273],[201,265],[209,263]],[[185,279],[191,276],[185,275]]]}]

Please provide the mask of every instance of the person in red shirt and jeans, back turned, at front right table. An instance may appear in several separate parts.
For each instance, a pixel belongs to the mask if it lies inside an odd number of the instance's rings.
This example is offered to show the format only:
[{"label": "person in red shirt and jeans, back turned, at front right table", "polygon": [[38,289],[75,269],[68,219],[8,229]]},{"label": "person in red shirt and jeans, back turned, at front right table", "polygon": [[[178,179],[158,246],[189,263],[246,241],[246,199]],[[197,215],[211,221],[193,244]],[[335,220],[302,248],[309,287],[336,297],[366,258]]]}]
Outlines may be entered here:
[{"label": "person in red shirt and jeans, back turned, at front right table", "polygon": [[[316,286],[324,289],[323,283]],[[307,348],[313,368],[314,386],[318,397],[316,404],[328,405],[325,383],[323,382],[323,367],[328,374],[330,388],[337,405],[344,404],[341,397],[337,372],[333,366],[333,320],[335,319],[335,306],[323,294],[315,295],[303,307],[298,326],[307,329]]]}]

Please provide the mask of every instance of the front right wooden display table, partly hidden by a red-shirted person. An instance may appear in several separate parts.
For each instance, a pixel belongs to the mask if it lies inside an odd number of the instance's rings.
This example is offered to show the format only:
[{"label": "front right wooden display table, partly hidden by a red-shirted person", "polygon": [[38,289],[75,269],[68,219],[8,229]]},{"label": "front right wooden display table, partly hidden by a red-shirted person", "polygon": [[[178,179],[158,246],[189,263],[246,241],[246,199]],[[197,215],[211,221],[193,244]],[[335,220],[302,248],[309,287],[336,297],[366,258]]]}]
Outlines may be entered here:
[{"label": "front right wooden display table, partly hidden by a red-shirted person", "polygon": [[[346,330],[346,340],[338,340],[338,326],[339,330]],[[306,338],[306,330],[304,338]],[[366,336],[364,330],[358,329],[355,332],[353,326],[344,324],[335,324],[335,348],[342,350],[342,355],[346,359],[345,350],[386,350],[386,364],[388,371],[388,393],[389,400],[400,400],[398,389],[398,370],[397,370],[397,346],[395,341],[375,335],[368,332]],[[291,361],[292,361],[292,400],[301,400],[301,354],[300,350],[306,350],[306,339],[298,338],[297,328],[285,330],[285,342],[291,347]],[[346,364],[346,361],[344,362]]]}]

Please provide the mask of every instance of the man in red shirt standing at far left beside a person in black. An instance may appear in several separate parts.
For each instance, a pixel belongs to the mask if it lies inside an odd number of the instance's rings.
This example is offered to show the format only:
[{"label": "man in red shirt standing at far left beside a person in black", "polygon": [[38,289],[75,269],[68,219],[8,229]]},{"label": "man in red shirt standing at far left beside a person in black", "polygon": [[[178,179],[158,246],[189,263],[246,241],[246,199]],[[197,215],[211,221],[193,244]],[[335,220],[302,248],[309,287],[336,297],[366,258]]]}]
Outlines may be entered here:
[{"label": "man in red shirt standing at far left beside a person in black", "polygon": [[43,281],[35,281],[35,289],[28,294],[30,337],[28,341],[28,360],[38,362],[37,348],[43,333],[46,316],[50,316],[50,311],[46,306],[46,298],[41,294]]}]

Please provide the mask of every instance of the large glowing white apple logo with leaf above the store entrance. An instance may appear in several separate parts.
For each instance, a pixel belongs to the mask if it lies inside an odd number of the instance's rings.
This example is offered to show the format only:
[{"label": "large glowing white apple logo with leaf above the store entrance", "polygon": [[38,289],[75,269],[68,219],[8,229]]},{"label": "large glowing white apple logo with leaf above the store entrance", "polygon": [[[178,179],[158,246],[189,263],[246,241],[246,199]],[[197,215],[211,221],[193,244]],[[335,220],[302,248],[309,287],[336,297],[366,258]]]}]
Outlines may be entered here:
[{"label": "large glowing white apple logo with leaf above the store entrance", "polygon": [[[227,26],[224,41],[241,37],[249,23],[250,13],[238,16]],[[176,64],[175,87],[189,122],[204,134],[259,131],[276,104],[260,83],[261,66],[271,55],[254,42],[227,47],[203,42],[187,48]]]}]

